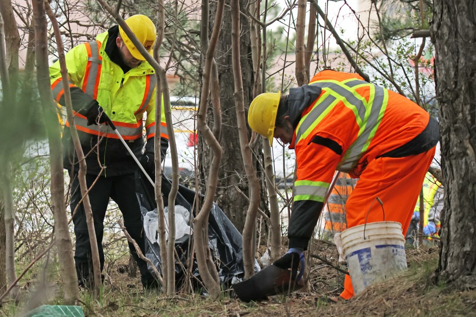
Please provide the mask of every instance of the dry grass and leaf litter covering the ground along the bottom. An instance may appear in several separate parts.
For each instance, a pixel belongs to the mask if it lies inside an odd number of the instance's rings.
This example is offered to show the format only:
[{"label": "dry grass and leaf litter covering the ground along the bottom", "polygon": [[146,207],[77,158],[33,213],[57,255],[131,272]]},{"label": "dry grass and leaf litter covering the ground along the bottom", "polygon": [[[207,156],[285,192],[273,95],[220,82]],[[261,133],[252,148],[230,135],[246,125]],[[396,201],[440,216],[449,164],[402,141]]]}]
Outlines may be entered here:
[{"label": "dry grass and leaf litter covering the ground along the bottom", "polygon": [[[318,242],[311,250],[337,264],[337,251],[332,245]],[[344,274],[315,259],[308,266],[311,270],[307,289],[290,296],[274,296],[261,303],[242,303],[230,297],[229,293],[221,301],[212,301],[197,294],[167,297],[144,292],[139,277],[127,276],[126,264],[122,263],[124,259],[109,270],[109,282],[104,286],[100,300],[83,291],[81,305],[87,316],[104,317],[476,316],[475,290],[461,291],[434,283],[438,259],[436,247],[409,249],[407,259],[407,272],[338,304],[328,304],[320,298],[339,294]],[[9,312],[11,314],[11,308]],[[7,307],[0,310],[0,316],[9,316]]]}]

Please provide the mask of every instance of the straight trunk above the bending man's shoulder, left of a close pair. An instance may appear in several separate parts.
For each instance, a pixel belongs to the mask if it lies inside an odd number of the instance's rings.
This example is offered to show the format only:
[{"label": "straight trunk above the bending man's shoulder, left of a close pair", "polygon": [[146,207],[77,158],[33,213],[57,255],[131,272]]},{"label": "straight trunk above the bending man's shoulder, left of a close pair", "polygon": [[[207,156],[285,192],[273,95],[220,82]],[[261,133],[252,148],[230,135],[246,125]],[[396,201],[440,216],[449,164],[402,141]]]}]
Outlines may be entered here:
[{"label": "straight trunk above the bending man's shoulder, left of a close pair", "polygon": [[309,74],[306,74],[304,61],[304,32],[306,28],[306,0],[297,1],[296,21],[296,80],[297,85],[302,86],[309,82]]}]

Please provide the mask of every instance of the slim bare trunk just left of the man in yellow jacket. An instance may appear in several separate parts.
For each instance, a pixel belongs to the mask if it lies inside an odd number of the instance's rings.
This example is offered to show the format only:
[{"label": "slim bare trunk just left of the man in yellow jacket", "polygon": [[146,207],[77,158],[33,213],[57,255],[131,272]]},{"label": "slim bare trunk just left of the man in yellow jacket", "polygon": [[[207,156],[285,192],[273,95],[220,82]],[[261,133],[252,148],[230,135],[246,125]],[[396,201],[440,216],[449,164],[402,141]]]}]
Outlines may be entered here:
[{"label": "slim bare trunk just left of the man in yellow jacket", "polygon": [[[68,230],[68,216],[64,202],[64,174],[62,162],[60,124],[57,117],[57,107],[53,101],[50,87],[50,72],[48,69],[48,35],[47,21],[44,15],[45,9],[51,19],[57,34],[57,43],[60,42],[60,28],[56,16],[51,11],[50,5],[45,0],[34,0],[33,8],[35,17],[36,33],[36,57],[37,57],[37,80],[45,121],[47,124],[48,144],[50,148],[51,167],[51,195],[52,210],[55,218],[55,240],[60,259],[61,281],[64,292],[64,302],[67,305],[74,304],[79,298],[77,287],[77,275],[74,268],[73,246]],[[45,7],[43,7],[45,5]],[[58,51],[64,58],[60,43]],[[63,59],[64,62],[64,59]],[[94,232],[94,231],[93,231]],[[99,255],[98,255],[99,260]]]}]

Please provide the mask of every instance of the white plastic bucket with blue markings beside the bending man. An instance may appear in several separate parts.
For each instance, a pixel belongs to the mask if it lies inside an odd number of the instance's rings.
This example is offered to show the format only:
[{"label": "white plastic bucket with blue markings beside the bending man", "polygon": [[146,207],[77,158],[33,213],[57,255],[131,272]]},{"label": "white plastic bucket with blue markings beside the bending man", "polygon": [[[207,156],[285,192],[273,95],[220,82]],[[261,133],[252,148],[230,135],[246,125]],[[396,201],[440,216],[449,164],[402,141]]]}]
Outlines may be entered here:
[{"label": "white plastic bucket with blue markings beside the bending man", "polygon": [[342,251],[354,293],[407,269],[402,224],[380,221],[342,231]]}]

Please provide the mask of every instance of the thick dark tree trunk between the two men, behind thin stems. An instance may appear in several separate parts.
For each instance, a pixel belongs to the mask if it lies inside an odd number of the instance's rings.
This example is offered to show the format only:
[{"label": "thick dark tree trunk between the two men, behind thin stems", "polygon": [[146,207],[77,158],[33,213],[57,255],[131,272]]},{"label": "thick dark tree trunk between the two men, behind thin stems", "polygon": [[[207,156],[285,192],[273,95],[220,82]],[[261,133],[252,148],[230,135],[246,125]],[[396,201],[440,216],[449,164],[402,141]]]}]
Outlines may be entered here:
[{"label": "thick dark tree trunk between the two men, behind thin stems", "polygon": [[[246,1],[241,0],[240,11],[246,11]],[[210,11],[216,9],[216,4],[211,3]],[[238,136],[238,120],[236,116],[235,100],[234,100],[234,79],[232,71],[232,17],[229,7],[225,7],[222,30],[220,32],[219,43],[217,45],[217,53],[215,60],[218,65],[218,77],[220,80],[220,104],[222,113],[221,135],[219,138],[220,146],[223,148],[223,156],[218,170],[218,187],[215,201],[225,214],[230,218],[233,224],[241,232],[244,227],[246,210],[248,201],[238,189],[249,196],[248,183],[246,180],[246,172],[240,155],[239,136]],[[214,24],[214,17],[210,16],[209,25]],[[211,28],[209,26],[209,28]],[[250,104],[253,98],[253,63],[251,58],[250,31],[247,19],[240,19],[240,64],[241,77],[243,80],[243,100],[244,105]],[[203,98],[203,96],[202,96]],[[209,111],[208,124],[213,126],[213,115]],[[210,169],[211,151],[207,144],[203,142],[203,138],[199,138],[199,179],[202,183],[207,183],[207,174]],[[261,153],[261,150],[257,150]],[[253,164],[259,170],[259,164],[253,160]],[[262,164],[261,164],[262,166]],[[258,177],[262,177],[262,172],[258,171]],[[261,186],[263,190],[264,186]],[[261,193],[261,197],[266,197]],[[260,208],[268,210],[267,204],[260,202]]]}]

